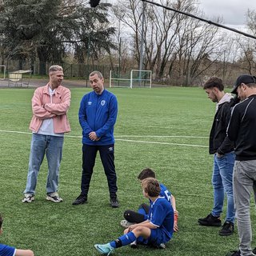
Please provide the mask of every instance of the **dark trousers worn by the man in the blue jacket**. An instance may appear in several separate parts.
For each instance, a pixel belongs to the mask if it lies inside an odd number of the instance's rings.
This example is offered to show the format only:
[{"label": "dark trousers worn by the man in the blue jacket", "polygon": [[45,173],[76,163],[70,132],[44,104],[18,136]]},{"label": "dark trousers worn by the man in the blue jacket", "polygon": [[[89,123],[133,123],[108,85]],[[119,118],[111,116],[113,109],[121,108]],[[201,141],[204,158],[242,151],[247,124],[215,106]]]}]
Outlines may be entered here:
[{"label": "dark trousers worn by the man in the blue jacket", "polygon": [[114,144],[105,146],[90,146],[82,145],[82,182],[81,182],[81,194],[88,194],[90,187],[90,179],[94,171],[95,159],[97,152],[99,151],[102,166],[107,178],[107,183],[110,190],[110,198],[117,197],[117,175],[115,173],[114,166]]}]

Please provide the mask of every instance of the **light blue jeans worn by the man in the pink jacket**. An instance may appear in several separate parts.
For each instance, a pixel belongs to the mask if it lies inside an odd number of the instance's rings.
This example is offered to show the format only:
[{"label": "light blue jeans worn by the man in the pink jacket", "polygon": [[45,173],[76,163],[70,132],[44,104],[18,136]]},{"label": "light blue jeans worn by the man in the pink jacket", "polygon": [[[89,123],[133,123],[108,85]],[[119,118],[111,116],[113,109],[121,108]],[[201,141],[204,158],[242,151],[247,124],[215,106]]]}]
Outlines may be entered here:
[{"label": "light blue jeans worn by the man in the pink jacket", "polygon": [[64,137],[32,134],[30,147],[30,162],[24,193],[34,194],[38,181],[38,172],[46,154],[48,175],[46,193],[58,191],[59,166],[62,161],[62,146]]}]

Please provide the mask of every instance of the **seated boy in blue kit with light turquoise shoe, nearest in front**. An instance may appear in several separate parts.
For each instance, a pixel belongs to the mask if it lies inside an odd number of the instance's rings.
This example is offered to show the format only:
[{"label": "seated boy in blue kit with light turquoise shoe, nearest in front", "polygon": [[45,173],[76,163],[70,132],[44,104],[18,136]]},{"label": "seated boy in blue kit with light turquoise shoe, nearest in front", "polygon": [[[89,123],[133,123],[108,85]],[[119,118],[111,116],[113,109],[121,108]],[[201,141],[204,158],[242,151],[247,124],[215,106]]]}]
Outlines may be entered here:
[{"label": "seated boy in blue kit with light turquoise shoe, nearest in front", "polygon": [[158,246],[170,241],[174,232],[174,210],[166,198],[160,197],[161,187],[155,178],[142,180],[142,191],[150,199],[150,212],[144,222],[129,226],[124,235],[107,244],[96,244],[100,254],[110,255],[115,248],[129,245],[135,240],[144,245]]}]

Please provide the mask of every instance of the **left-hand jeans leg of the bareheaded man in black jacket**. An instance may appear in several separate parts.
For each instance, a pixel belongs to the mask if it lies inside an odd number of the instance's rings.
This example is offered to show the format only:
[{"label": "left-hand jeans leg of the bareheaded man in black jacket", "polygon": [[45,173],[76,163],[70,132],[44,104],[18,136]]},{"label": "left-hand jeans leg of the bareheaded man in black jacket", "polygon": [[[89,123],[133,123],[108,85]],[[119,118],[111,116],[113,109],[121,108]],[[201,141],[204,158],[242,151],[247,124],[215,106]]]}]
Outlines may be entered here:
[{"label": "left-hand jeans leg of the bareheaded man in black jacket", "polygon": [[216,154],[214,154],[214,170],[212,184],[214,187],[214,208],[211,214],[214,217],[218,217],[222,214],[222,207],[224,202],[224,187],[222,184],[222,176],[218,168],[218,163],[216,162]]}]

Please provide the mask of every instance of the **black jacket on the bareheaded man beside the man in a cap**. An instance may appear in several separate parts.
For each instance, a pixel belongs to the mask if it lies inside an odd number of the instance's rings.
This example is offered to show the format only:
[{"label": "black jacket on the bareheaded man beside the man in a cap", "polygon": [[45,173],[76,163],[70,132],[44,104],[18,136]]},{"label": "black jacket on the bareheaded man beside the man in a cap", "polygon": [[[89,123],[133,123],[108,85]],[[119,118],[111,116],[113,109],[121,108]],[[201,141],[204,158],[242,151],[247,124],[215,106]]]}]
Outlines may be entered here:
[{"label": "black jacket on the bareheaded man beside the man in a cap", "polygon": [[234,151],[234,142],[226,136],[226,129],[230,122],[231,108],[234,106],[234,98],[230,102],[223,102],[218,106],[214,116],[213,126],[210,130],[209,153],[226,154]]}]

